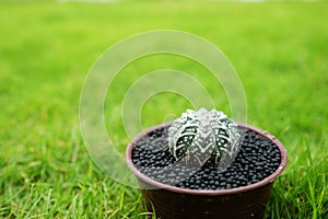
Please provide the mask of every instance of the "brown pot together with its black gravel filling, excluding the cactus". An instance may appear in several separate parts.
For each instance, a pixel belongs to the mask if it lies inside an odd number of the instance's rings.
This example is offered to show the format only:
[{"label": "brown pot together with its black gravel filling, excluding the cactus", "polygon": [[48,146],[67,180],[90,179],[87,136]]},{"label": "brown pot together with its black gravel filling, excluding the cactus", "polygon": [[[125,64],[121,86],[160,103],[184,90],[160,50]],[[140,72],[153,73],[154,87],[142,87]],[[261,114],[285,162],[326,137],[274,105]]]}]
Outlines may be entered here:
[{"label": "brown pot together with its black gravel filling, excluding the cactus", "polygon": [[237,124],[241,148],[222,171],[192,169],[169,153],[167,129],[154,126],[128,146],[128,166],[139,181],[147,210],[156,218],[263,218],[274,180],[286,165],[286,151],[272,135]]}]

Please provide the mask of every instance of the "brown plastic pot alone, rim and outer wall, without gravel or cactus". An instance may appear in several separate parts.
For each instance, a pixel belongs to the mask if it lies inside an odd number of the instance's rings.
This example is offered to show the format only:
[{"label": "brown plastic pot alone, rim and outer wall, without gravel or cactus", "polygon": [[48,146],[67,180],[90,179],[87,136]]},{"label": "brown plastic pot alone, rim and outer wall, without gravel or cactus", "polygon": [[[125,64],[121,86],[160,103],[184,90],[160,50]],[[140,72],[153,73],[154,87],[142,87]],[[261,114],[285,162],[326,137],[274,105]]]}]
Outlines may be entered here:
[{"label": "brown plastic pot alone, rim and outer wall, without gravel or cactus", "polygon": [[[155,210],[156,218],[263,218],[266,205],[274,180],[284,170],[288,161],[286,151],[273,136],[259,128],[238,124],[239,127],[253,130],[273,141],[281,153],[279,168],[260,182],[231,189],[196,191],[179,188],[156,182],[142,174],[132,163],[131,154],[137,142],[154,130],[167,127],[169,124],[154,126],[138,135],[128,146],[126,159],[129,168],[137,176],[141,192],[147,203],[148,211]],[[145,189],[153,188],[153,189]]]}]

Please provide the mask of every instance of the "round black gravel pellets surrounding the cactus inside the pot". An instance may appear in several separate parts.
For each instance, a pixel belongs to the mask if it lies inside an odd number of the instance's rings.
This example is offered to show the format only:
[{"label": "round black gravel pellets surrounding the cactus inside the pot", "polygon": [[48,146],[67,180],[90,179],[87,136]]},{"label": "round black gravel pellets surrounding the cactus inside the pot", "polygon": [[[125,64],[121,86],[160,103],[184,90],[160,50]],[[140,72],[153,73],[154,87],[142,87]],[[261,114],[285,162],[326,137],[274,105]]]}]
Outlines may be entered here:
[{"label": "round black gravel pellets surrounding the cactus inside the pot", "polygon": [[280,151],[270,139],[241,129],[239,152],[226,170],[206,163],[201,168],[176,162],[168,151],[167,128],[143,137],[132,151],[132,162],[149,177],[190,189],[226,189],[246,186],[271,175],[280,164]]}]

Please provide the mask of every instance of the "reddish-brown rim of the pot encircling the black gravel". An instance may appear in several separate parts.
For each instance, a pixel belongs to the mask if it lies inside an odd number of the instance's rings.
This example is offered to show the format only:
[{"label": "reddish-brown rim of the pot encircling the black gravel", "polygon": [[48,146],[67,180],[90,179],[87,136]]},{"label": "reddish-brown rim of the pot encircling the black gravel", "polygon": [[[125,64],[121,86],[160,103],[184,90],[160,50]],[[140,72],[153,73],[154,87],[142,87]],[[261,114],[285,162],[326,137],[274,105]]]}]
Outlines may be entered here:
[{"label": "reddish-brown rim of the pot encircling the black gravel", "polygon": [[243,124],[243,123],[237,123],[238,127],[253,130],[253,131],[263,136],[265,138],[270,139],[272,142],[274,142],[278,146],[280,155],[281,155],[281,161],[280,161],[278,169],[271,175],[267,176],[266,178],[263,178],[257,183],[250,184],[250,185],[239,186],[236,188],[216,189],[216,191],[181,188],[181,187],[176,187],[176,186],[167,185],[164,183],[160,183],[157,181],[150,178],[145,174],[141,173],[136,168],[136,165],[132,162],[132,150],[142,137],[150,135],[151,132],[153,132],[156,129],[165,128],[165,127],[169,126],[172,123],[156,125],[156,126],[153,126],[153,127],[140,132],[137,137],[134,137],[130,141],[130,143],[128,145],[128,148],[126,150],[126,160],[127,160],[129,169],[133,172],[133,174],[139,180],[153,186],[154,187],[153,189],[161,188],[161,189],[166,189],[166,191],[171,191],[171,192],[179,193],[179,194],[200,195],[200,196],[220,196],[220,195],[223,196],[223,195],[238,194],[238,193],[244,193],[244,192],[248,192],[251,189],[256,189],[256,188],[259,188],[259,187],[262,187],[262,186],[266,186],[266,185],[272,183],[285,169],[285,165],[288,162],[286,150],[283,147],[283,145],[274,136],[272,136],[268,131],[257,128],[255,126],[250,126],[248,124]]}]

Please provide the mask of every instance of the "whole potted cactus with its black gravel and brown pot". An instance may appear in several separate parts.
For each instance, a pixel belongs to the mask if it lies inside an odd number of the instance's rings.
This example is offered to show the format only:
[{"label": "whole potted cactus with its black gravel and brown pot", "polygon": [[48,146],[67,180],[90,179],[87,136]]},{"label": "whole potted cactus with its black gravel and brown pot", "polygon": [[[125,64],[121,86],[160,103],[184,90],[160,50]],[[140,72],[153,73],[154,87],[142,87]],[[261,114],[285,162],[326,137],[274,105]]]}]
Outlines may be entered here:
[{"label": "whole potted cactus with its black gravel and brown pot", "polygon": [[137,136],[126,158],[157,218],[262,218],[286,151],[215,110],[188,110]]}]

